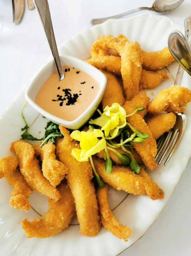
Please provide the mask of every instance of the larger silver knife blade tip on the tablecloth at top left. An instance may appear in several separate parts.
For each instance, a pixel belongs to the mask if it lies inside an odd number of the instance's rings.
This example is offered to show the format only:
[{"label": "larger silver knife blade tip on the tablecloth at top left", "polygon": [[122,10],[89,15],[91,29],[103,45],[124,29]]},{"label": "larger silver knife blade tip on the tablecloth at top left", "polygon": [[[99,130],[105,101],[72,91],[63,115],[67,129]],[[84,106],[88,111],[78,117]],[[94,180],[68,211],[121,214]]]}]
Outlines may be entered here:
[{"label": "larger silver knife blade tip on the tablecloth at top left", "polygon": [[13,5],[13,24],[19,25],[25,11],[25,0],[12,0]]}]

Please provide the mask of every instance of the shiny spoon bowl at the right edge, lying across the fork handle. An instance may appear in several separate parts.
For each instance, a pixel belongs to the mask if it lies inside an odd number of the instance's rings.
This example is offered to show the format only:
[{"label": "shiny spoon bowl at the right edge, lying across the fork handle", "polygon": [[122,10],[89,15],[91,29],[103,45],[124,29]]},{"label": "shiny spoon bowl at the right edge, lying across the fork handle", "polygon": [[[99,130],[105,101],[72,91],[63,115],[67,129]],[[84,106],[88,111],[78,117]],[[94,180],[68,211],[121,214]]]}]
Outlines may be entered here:
[{"label": "shiny spoon bowl at the right edge, lying across the fork handle", "polygon": [[185,37],[179,31],[170,34],[169,51],[181,67],[191,76],[191,50]]}]

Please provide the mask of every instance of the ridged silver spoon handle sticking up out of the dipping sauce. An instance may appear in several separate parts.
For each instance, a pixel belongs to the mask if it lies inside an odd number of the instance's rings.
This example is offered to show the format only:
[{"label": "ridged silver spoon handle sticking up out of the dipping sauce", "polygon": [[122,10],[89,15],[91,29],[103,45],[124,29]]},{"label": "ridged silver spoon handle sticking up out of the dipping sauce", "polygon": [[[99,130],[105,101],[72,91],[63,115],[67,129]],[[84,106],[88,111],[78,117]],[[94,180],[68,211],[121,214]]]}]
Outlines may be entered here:
[{"label": "ridged silver spoon handle sticking up out of the dipping sauce", "polygon": [[56,40],[54,37],[54,31],[52,27],[52,21],[51,21],[51,16],[50,16],[50,10],[49,10],[49,5],[47,0],[34,0],[34,4],[37,8],[39,17],[41,19],[44,31],[47,36],[47,40],[54,58],[54,62],[56,64],[56,68],[58,71],[59,75],[59,80],[64,79],[64,73],[62,70],[62,65],[60,62],[60,57],[58,54],[58,48],[56,44]]}]

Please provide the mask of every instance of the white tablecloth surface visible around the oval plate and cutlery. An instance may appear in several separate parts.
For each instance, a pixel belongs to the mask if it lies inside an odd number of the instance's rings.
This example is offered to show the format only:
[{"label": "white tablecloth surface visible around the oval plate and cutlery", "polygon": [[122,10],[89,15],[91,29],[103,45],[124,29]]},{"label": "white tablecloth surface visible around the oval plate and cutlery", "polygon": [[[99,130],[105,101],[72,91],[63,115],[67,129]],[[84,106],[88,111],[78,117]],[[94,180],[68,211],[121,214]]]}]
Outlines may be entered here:
[{"label": "white tablecloth surface visible around the oval plate and cutlery", "polygon": [[[162,0],[161,0],[162,1]],[[91,27],[92,18],[107,17],[141,6],[152,0],[49,0],[57,45]],[[191,12],[185,0],[166,14],[183,24]],[[136,14],[135,14],[136,15]],[[26,8],[20,25],[12,24],[11,0],[0,1],[0,115],[51,54],[36,9]],[[3,136],[3,134],[2,134]],[[180,159],[181,161],[181,159]],[[191,255],[191,161],[167,206],[148,232],[122,256]]]}]

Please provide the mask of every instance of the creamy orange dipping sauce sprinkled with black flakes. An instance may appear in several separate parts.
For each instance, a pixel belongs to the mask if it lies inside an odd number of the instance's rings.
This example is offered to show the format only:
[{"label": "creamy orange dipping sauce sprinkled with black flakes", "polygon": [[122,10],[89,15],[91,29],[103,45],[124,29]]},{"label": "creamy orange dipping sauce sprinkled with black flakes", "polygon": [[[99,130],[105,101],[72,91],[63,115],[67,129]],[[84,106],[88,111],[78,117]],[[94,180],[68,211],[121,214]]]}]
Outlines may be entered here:
[{"label": "creamy orange dipping sauce sprinkled with black flakes", "polygon": [[55,71],[40,88],[35,101],[50,114],[67,121],[78,118],[100,90],[99,83],[77,68],[63,66],[64,79]]}]

